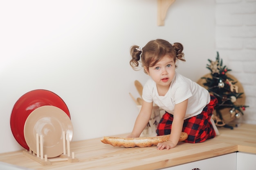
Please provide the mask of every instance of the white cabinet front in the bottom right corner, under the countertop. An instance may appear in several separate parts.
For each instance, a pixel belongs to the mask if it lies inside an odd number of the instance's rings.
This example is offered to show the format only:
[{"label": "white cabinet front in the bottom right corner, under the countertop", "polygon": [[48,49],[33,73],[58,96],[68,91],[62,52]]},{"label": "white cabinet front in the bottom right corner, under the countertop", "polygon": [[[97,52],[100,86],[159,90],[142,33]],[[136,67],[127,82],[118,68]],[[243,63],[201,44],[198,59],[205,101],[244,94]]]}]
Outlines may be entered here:
[{"label": "white cabinet front in the bottom right corner, under the countertop", "polygon": [[256,154],[238,152],[236,157],[236,170],[255,170]]}]

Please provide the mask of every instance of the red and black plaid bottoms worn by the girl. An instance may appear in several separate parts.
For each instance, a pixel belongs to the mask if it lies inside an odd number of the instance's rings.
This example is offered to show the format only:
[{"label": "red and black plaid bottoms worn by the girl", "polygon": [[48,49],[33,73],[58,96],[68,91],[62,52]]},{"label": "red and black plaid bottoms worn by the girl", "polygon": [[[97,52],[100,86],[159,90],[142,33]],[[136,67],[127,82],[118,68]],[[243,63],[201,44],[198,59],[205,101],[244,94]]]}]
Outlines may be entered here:
[{"label": "red and black plaid bottoms worn by the girl", "polygon": [[[189,135],[184,142],[199,143],[216,136],[210,120],[217,102],[217,98],[211,95],[211,101],[202,113],[184,120],[182,132]],[[165,112],[157,126],[157,136],[171,134],[172,123],[173,115]]]}]

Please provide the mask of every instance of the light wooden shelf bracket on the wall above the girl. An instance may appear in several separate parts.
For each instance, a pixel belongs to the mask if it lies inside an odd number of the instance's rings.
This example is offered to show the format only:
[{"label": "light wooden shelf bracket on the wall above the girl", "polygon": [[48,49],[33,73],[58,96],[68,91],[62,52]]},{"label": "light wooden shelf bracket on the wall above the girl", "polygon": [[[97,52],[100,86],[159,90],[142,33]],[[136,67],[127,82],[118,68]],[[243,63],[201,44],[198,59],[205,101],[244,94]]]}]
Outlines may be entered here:
[{"label": "light wooden shelf bracket on the wall above the girl", "polygon": [[157,26],[164,26],[166,13],[175,0],[157,0]]}]

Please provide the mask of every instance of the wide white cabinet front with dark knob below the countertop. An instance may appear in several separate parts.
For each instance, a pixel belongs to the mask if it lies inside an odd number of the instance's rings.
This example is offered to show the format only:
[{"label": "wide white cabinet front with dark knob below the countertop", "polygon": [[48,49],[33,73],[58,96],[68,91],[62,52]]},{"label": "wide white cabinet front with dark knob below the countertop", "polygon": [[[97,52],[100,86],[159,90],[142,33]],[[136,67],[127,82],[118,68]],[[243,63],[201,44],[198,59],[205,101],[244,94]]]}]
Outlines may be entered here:
[{"label": "wide white cabinet front with dark knob below the countertop", "polygon": [[236,153],[203,159],[163,170],[193,170],[195,168],[198,168],[198,170],[236,170]]}]

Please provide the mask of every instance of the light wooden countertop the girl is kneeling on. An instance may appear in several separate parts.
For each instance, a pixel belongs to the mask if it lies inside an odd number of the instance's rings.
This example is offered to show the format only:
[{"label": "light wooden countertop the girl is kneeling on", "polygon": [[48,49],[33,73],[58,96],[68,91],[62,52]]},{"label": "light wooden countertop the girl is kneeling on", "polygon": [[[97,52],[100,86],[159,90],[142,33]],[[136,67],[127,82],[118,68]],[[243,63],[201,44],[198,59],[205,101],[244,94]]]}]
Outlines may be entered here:
[{"label": "light wooden countertop the girl is kneeling on", "polygon": [[[241,124],[231,129],[218,128],[220,135],[198,144],[180,142],[170,150],[157,150],[155,146],[146,148],[113,147],[103,144],[100,138],[72,142],[71,152],[79,162],[53,162],[42,166],[23,155],[22,150],[0,154],[0,161],[36,170],[57,169],[159,169],[198,161],[236,151],[256,154],[256,125]],[[127,134],[119,135],[125,137]]]}]

